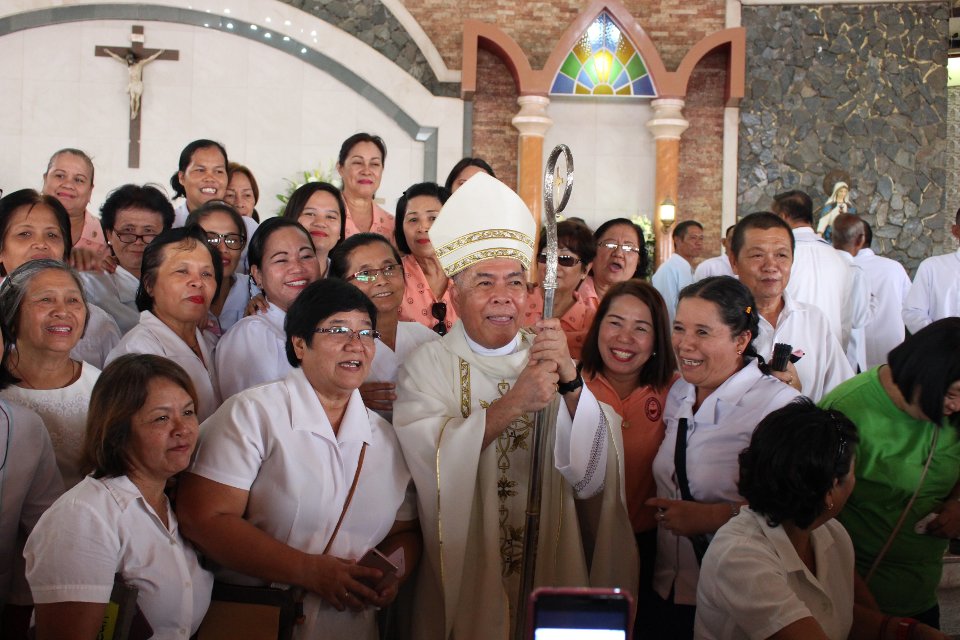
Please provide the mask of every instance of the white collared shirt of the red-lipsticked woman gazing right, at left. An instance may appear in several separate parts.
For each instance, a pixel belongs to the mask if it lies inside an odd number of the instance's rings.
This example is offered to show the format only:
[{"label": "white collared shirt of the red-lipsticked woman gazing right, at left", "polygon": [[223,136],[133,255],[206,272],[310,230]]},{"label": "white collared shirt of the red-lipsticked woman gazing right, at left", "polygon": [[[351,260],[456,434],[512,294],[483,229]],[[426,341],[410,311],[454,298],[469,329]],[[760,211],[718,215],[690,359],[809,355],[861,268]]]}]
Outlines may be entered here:
[{"label": "white collared shirt of the red-lipsticked woman gazing right, at left", "polygon": [[197,329],[197,343],[203,355],[201,360],[173,329],[163,324],[163,321],[151,312],[142,311],[140,323],[128,331],[120,344],[114,347],[107,356],[107,364],[127,353],[152,353],[173,360],[190,376],[200,401],[197,416],[200,420],[205,420],[220,406],[217,370],[213,361],[213,348],[208,340],[206,334]]}]

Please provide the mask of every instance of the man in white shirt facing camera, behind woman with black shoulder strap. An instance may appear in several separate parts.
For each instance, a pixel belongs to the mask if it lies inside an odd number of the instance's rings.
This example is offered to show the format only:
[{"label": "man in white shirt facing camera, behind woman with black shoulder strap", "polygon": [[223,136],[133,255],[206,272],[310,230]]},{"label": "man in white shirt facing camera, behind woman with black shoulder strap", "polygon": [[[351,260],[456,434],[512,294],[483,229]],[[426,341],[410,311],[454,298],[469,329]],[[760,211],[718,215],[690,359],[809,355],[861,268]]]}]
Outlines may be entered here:
[{"label": "man in white shirt facing camera, behind woman with black shoulder strap", "polygon": [[[800,391],[818,402],[852,378],[853,369],[823,313],[790,295],[793,247],[793,235],[784,220],[768,212],[751,213],[737,223],[730,255],[733,270],[750,289],[760,313],[760,335],[754,348],[768,363],[778,342],[803,351],[796,363]],[[787,384],[795,383],[789,370],[772,373]]]}]

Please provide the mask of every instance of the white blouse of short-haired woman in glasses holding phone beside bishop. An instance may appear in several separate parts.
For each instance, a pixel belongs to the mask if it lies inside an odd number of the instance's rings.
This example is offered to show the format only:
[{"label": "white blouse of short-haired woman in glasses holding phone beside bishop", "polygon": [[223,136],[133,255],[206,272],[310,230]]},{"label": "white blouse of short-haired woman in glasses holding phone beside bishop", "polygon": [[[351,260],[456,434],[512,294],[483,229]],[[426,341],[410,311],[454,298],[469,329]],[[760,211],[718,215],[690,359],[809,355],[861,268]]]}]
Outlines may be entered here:
[{"label": "white blouse of short-haired woman in glasses holding phone beside bishop", "polygon": [[[354,391],[338,433],[303,371],[227,400],[200,431],[191,471],[249,492],[246,519],[280,542],[319,554],[327,545],[368,444],[357,488],[330,554],[359,559],[396,520],[415,520],[410,472],[396,435]],[[236,573],[221,577],[237,582]],[[247,578],[246,581],[249,581]],[[297,638],[376,638],[375,612],[338,612],[308,594]]]}]

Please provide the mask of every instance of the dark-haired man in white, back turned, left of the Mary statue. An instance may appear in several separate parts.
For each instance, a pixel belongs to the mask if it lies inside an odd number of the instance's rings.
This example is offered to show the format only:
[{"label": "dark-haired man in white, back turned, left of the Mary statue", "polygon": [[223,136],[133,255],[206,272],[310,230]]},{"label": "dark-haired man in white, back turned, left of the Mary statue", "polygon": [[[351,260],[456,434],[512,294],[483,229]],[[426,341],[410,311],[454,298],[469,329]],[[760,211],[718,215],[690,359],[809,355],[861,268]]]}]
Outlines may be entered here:
[{"label": "dark-haired man in white, back turned, left of the Mary statue", "polygon": [[820,309],[833,335],[846,345],[853,325],[853,301],[866,304],[867,291],[855,287],[854,267],[813,230],[810,196],[787,191],[773,200],[773,212],[790,225],[796,241],[787,292],[794,300]]}]

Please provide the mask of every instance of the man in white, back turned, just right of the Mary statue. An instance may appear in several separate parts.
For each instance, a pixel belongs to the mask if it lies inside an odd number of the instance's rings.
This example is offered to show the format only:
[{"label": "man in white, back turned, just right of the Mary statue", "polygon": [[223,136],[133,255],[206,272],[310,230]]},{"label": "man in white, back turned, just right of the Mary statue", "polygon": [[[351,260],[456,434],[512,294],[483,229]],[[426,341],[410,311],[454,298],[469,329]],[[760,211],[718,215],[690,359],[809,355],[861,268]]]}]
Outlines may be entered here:
[{"label": "man in white, back turned, just right of the Mary statue", "polygon": [[833,246],[853,256],[870,289],[871,317],[864,328],[867,369],[886,363],[890,350],[903,342],[899,312],[910,290],[910,277],[903,265],[875,254],[871,242],[873,231],[863,218],[844,213],[834,220]]}]

